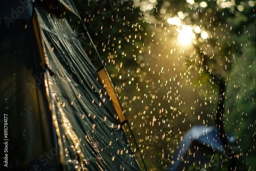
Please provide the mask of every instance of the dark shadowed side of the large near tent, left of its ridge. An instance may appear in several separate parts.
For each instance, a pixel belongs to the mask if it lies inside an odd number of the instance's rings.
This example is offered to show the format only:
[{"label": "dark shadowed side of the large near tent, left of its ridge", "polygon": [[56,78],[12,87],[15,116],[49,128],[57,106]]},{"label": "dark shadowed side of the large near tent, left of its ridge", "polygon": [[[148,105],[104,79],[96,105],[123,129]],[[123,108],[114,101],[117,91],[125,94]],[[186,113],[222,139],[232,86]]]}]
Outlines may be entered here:
[{"label": "dark shadowed side of the large near tent, left of its ridge", "polygon": [[[0,6],[5,9],[0,15],[0,115],[6,121],[0,124],[1,147],[2,141],[8,144],[7,151],[1,152],[1,159],[7,154],[8,168],[1,162],[0,169],[29,171],[44,167],[58,171],[56,133],[32,23],[32,4],[24,0],[8,1]],[[4,123],[8,124],[6,135]],[[52,154],[51,160],[45,160],[45,153]]]}]

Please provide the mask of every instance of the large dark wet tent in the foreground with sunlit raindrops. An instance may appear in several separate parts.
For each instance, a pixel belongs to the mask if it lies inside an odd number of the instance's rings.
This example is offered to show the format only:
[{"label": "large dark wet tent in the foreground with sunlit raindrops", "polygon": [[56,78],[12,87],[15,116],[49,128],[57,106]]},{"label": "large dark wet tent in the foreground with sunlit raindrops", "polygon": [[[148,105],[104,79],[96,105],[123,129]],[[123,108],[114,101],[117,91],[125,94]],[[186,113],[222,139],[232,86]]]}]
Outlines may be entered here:
[{"label": "large dark wet tent in the foreground with sunlit raindrops", "polygon": [[105,67],[96,70],[63,17],[72,0],[0,3],[5,171],[139,171]]}]

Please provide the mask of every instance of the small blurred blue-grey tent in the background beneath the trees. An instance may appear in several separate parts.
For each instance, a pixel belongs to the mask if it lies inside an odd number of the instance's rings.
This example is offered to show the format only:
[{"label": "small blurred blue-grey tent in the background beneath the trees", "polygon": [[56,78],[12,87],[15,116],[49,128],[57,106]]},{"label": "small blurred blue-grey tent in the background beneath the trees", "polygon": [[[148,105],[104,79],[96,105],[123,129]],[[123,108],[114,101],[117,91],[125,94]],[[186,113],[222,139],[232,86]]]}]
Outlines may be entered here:
[{"label": "small blurred blue-grey tent in the background beneath the trees", "polygon": [[[236,137],[227,135],[227,138],[230,144],[235,144]],[[207,163],[210,161],[209,156],[221,154],[224,150],[225,145],[215,126],[193,126],[177,146],[169,171],[189,170],[190,166]]]}]

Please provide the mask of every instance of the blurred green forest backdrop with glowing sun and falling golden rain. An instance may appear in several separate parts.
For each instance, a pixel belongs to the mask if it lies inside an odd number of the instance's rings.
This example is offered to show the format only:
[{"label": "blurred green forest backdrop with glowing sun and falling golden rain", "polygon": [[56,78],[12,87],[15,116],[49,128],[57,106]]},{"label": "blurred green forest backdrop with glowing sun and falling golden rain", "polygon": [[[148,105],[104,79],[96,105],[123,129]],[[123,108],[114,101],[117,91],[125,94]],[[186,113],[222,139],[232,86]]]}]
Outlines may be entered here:
[{"label": "blurred green forest backdrop with glowing sun and falling golden rain", "polygon": [[[148,171],[164,171],[193,125],[214,125],[227,83],[224,128],[237,137],[243,170],[256,171],[256,1],[75,0],[111,76]],[[70,21],[79,20],[67,12]],[[81,28],[74,28],[79,35]],[[93,63],[99,60],[81,35]],[[134,140],[125,130],[135,150]],[[212,161],[214,162],[214,161]],[[228,159],[222,163],[226,170]]]}]

